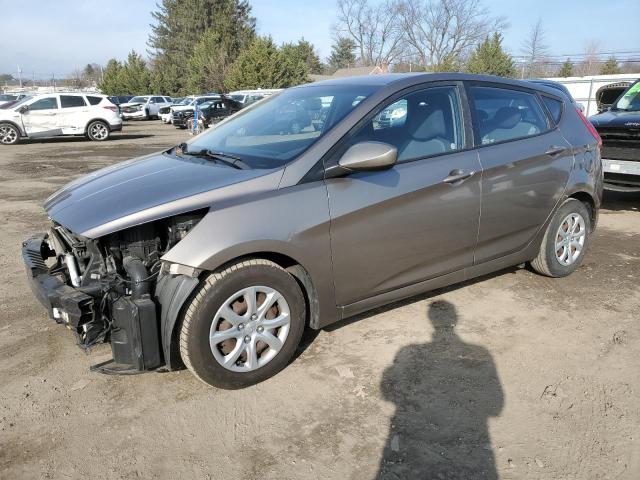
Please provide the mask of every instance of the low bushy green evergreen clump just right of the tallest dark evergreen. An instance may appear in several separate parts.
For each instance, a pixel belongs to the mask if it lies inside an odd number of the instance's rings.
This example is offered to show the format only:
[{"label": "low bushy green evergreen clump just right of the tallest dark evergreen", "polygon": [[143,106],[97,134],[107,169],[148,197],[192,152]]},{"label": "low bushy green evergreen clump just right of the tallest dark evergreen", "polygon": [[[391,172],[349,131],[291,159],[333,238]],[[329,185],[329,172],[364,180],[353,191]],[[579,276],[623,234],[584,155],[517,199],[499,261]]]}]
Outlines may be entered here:
[{"label": "low bushy green evergreen clump just right of the tallest dark evergreen", "polygon": [[225,85],[229,90],[287,88],[307,81],[306,63],[283,53],[271,37],[258,37],[229,69]]}]

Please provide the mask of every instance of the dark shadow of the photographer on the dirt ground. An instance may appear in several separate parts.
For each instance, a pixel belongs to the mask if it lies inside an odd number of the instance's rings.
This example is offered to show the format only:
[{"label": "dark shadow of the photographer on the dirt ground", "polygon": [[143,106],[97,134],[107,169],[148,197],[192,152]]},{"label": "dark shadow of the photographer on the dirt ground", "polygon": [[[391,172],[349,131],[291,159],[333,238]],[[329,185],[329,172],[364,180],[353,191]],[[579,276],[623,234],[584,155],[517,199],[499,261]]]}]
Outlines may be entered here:
[{"label": "dark shadow of the photographer on the dirt ground", "polygon": [[396,412],[378,478],[495,480],[487,422],[503,393],[493,359],[458,337],[451,303],[433,302],[428,316],[432,341],[402,348],[382,378]]}]

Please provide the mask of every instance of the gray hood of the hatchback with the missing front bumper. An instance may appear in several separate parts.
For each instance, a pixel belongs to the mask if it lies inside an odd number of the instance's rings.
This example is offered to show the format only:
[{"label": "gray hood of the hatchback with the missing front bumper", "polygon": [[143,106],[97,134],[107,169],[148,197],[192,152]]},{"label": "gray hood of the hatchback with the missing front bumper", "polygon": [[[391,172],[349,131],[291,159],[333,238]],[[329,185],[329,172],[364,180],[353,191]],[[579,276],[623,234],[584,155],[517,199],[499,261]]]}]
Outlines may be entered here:
[{"label": "gray hood of the hatchback with the missing front bumper", "polygon": [[240,193],[273,190],[281,176],[281,171],[239,170],[156,153],[80,177],[49,197],[44,208],[72,232],[97,238]]}]

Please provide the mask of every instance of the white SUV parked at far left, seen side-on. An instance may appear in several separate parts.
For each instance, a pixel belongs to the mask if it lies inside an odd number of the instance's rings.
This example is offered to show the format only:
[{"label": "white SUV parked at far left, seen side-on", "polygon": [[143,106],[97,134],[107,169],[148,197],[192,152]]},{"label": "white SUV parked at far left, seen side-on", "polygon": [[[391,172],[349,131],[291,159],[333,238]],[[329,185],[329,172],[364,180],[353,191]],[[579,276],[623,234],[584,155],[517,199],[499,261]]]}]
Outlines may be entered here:
[{"label": "white SUV parked at far left, seen side-on", "polygon": [[86,135],[103,141],[122,130],[118,107],[105,95],[50,93],[27,97],[0,109],[0,144],[22,138]]}]

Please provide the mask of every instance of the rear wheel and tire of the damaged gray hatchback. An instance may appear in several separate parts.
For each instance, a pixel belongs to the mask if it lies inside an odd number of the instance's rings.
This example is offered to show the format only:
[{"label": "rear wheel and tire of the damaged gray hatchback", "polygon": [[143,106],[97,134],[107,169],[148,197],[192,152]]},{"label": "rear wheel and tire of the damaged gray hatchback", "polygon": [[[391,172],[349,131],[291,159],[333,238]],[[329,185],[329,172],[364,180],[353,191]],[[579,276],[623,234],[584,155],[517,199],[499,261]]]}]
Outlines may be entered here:
[{"label": "rear wheel and tire of the damaged gray hatchback", "polygon": [[570,198],[553,216],[540,245],[533,269],[548,277],[566,277],[584,260],[591,234],[589,210],[579,200]]}]

